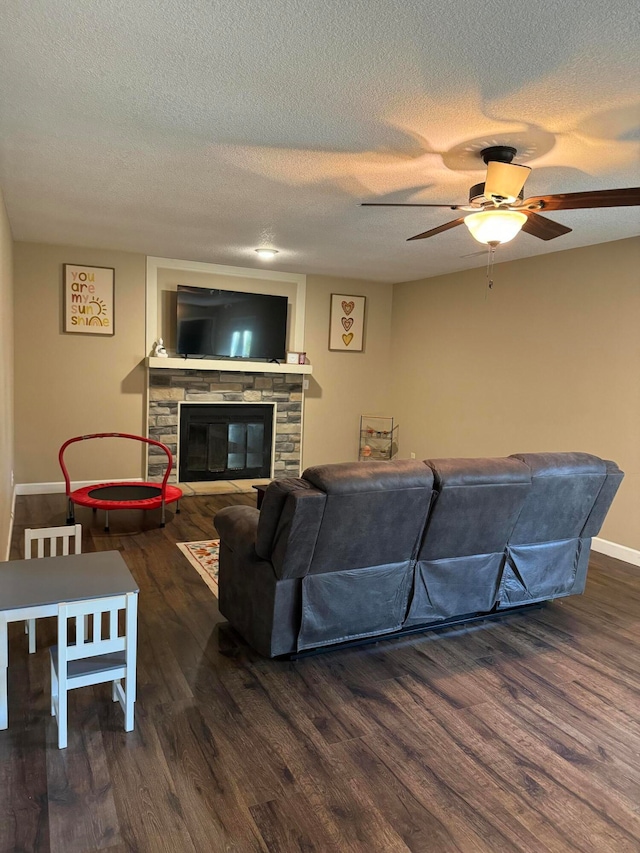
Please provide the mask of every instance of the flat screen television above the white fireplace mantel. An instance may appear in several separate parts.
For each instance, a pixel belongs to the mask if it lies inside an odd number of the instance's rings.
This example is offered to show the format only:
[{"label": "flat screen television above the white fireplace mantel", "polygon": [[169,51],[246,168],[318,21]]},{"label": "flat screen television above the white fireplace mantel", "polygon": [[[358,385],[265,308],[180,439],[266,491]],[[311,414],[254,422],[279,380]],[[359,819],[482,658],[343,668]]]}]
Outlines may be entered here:
[{"label": "flat screen television above the white fireplace mantel", "polygon": [[285,357],[287,297],[178,285],[177,353],[184,356]]}]

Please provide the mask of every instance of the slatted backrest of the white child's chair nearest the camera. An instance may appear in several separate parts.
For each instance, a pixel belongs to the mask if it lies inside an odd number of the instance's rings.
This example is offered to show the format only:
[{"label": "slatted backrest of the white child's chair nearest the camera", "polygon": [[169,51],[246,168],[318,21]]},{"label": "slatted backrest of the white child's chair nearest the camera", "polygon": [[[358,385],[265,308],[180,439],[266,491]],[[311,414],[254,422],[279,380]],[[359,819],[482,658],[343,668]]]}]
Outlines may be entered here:
[{"label": "slatted backrest of the white child's chair nearest the camera", "polygon": [[[58,653],[61,661],[125,652],[136,631],[135,593],[58,605]],[[125,612],[124,622],[119,619]],[[88,617],[85,619],[84,617]],[[105,618],[106,617],[106,618]],[[68,641],[68,623],[75,621],[75,642]],[[94,669],[99,669],[99,665]]]}]

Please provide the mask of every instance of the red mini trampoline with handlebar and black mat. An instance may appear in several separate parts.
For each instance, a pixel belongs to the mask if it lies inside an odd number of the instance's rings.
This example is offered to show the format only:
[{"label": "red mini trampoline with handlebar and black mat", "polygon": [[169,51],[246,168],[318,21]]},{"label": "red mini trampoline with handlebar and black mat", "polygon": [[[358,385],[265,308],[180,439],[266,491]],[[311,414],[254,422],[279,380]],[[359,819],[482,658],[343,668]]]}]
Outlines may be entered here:
[{"label": "red mini trampoline with handlebar and black mat", "polygon": [[[110,482],[96,483],[91,486],[83,486],[80,489],[71,489],[71,480],[69,472],[64,463],[64,453],[70,444],[76,441],[87,441],[92,438],[128,438],[134,441],[141,441],[144,444],[151,444],[154,447],[161,448],[167,454],[167,469],[161,483],[137,483],[137,482]],[[67,499],[69,501],[67,511],[67,524],[75,522],[75,504],[78,506],[90,506],[95,512],[98,509],[105,511],[104,529],[109,530],[109,510],[110,509],[157,509],[161,508],[160,527],[165,525],[165,506],[170,503],[179,502],[182,497],[182,489],[178,486],[170,486],[167,484],[171,468],[173,467],[173,459],[171,451],[160,441],[154,441],[152,438],[144,438],[141,435],[130,435],[125,432],[97,432],[93,435],[78,435],[75,438],[70,438],[60,448],[58,460],[62,473],[64,474],[65,489]],[[180,504],[177,503],[176,512],[180,512]]]}]

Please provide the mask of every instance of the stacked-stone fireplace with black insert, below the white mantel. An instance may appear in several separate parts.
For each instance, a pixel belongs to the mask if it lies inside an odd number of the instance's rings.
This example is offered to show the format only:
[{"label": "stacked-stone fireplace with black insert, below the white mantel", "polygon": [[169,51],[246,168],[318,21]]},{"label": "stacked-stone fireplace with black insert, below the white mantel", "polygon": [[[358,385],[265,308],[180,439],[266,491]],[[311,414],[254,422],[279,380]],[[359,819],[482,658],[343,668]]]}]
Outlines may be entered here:
[{"label": "stacked-stone fireplace with black insert, below the white mantel", "polygon": [[[155,360],[155,359],[154,359]],[[172,361],[174,361],[172,359]],[[199,434],[199,451],[192,456],[197,462],[198,480],[242,479],[271,477],[296,477],[300,474],[301,436],[302,436],[302,381],[303,377],[296,373],[275,372],[231,372],[225,370],[186,370],[184,368],[167,367],[149,369],[148,394],[148,429],[149,438],[161,441],[171,450],[174,458],[174,468],[169,482],[178,481],[178,466],[182,469],[180,457],[184,452],[180,442],[181,410],[192,411],[208,409],[210,412],[219,409],[223,415],[226,405],[237,404],[236,411],[239,419],[223,421],[218,427],[196,426],[194,435]],[[193,404],[193,405],[192,405]],[[197,404],[197,405],[196,405]],[[203,407],[200,404],[209,404]],[[248,404],[253,404],[249,406]],[[252,408],[269,410],[271,414],[272,434],[267,438],[271,444],[271,471],[267,474],[255,473],[256,442],[259,428],[249,426],[258,421],[249,417]],[[214,413],[215,414],[215,413]],[[224,417],[228,417],[228,410]],[[244,416],[244,419],[243,417]],[[200,424],[208,422],[206,418],[196,417]],[[223,425],[221,425],[223,424]],[[236,426],[229,427],[229,424]],[[264,439],[264,435],[263,435]],[[225,447],[223,452],[222,447]],[[158,452],[156,452],[158,451]],[[251,464],[240,466],[244,461]],[[206,456],[206,460],[205,457]],[[222,465],[223,456],[225,464]],[[148,457],[148,479],[160,480],[164,474],[163,460],[166,456],[162,450],[150,447]],[[229,463],[230,464],[227,464]],[[234,468],[234,466],[236,466]],[[246,471],[243,473],[241,467]],[[211,470],[209,470],[211,469]],[[188,470],[188,469],[184,469]],[[264,470],[264,461],[262,468]],[[235,471],[235,474],[233,473]],[[189,482],[182,480],[182,482]]]}]

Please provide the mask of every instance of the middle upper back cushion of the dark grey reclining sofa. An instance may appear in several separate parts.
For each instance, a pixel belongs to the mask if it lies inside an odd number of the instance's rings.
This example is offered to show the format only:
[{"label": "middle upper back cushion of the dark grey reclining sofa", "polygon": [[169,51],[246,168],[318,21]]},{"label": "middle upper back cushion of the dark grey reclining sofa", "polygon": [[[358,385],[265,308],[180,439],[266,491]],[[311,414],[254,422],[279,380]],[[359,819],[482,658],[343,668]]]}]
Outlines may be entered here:
[{"label": "middle upper back cushion of the dark grey reclining sofa", "polygon": [[517,459],[430,459],[438,497],[420,560],[502,552],[531,488]]}]

